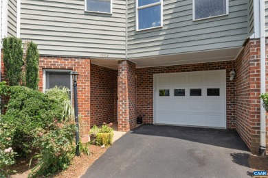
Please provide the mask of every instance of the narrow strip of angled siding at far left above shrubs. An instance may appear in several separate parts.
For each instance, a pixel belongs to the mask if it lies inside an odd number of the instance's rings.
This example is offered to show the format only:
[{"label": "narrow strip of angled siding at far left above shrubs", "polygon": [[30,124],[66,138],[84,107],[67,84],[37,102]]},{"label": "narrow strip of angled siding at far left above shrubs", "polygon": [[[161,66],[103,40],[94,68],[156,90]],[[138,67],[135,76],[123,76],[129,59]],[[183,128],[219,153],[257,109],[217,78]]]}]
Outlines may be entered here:
[{"label": "narrow strip of angled siding at far left above shrubs", "polygon": [[8,36],[16,36],[16,0],[8,0]]}]

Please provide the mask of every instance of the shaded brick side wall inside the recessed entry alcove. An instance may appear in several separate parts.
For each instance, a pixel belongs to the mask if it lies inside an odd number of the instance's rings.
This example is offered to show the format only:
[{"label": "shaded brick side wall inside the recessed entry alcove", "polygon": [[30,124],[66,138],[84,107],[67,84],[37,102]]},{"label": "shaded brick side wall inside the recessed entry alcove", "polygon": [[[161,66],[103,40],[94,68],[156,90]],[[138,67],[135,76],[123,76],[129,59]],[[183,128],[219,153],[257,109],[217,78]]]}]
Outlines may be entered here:
[{"label": "shaded brick side wall inside the recessed entry alcove", "polygon": [[91,126],[117,119],[118,71],[91,64]]}]

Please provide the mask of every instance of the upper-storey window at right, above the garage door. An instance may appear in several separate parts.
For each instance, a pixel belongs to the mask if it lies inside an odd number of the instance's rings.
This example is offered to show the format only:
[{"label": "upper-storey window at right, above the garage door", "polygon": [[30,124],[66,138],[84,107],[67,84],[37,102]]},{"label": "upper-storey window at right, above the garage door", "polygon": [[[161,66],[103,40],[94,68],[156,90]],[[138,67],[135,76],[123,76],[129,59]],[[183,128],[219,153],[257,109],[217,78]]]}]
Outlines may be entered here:
[{"label": "upper-storey window at right, above the garage door", "polygon": [[193,0],[193,19],[227,15],[228,0]]}]

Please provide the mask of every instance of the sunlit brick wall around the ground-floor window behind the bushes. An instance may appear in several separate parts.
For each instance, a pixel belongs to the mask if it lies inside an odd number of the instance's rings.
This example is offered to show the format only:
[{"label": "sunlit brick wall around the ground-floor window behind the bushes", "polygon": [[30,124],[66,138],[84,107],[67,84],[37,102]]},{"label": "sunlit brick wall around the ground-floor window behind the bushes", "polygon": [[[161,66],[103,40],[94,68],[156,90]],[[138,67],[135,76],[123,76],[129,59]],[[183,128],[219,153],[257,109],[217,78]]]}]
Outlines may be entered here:
[{"label": "sunlit brick wall around the ground-floor window behind the bushes", "polygon": [[87,133],[90,128],[90,60],[87,58],[45,57],[39,59],[39,90],[43,90],[44,69],[69,69],[78,75],[78,108],[81,116],[81,132]]}]

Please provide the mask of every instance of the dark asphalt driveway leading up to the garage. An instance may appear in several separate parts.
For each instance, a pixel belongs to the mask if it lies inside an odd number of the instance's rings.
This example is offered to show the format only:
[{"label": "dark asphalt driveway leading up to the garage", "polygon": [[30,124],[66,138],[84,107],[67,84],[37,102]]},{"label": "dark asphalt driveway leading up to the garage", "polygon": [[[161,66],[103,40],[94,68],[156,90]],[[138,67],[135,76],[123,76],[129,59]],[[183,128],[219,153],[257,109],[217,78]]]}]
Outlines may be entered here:
[{"label": "dark asphalt driveway leading up to the garage", "polygon": [[117,140],[82,177],[250,177],[248,157],[235,131],[142,125]]}]

